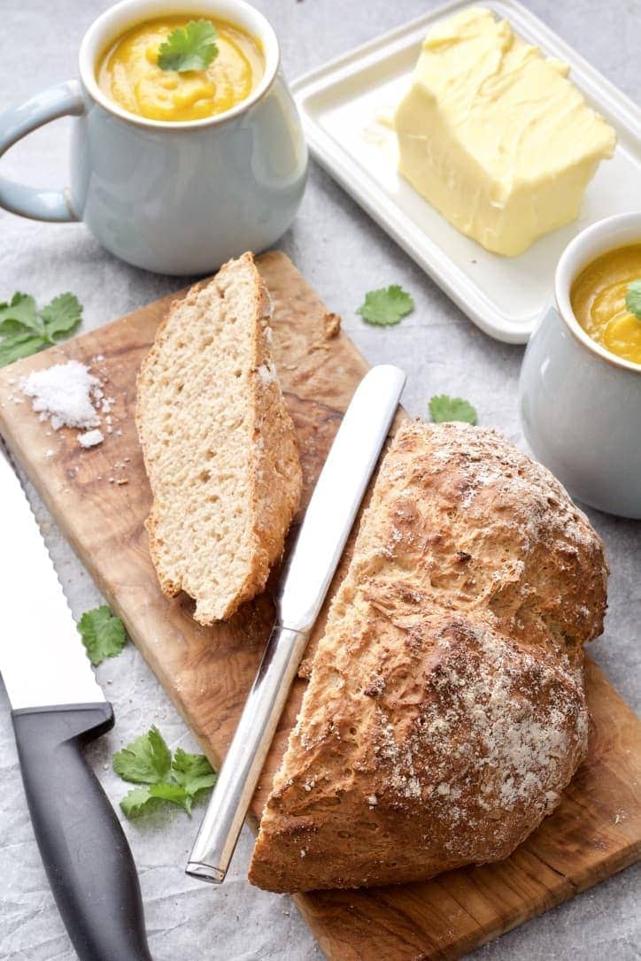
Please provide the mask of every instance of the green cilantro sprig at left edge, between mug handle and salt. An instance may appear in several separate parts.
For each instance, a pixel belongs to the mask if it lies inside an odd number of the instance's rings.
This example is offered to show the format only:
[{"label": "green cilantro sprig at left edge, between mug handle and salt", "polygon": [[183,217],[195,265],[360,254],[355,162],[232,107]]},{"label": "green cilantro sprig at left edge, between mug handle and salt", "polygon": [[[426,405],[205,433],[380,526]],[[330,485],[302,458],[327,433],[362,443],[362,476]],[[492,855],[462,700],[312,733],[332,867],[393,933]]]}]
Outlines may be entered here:
[{"label": "green cilantro sprig at left edge, between mug handle and salt", "polygon": [[31,294],[17,291],[10,303],[0,304],[0,367],[57,343],[59,334],[73,333],[82,314],[73,294],[61,294],[38,311]]}]

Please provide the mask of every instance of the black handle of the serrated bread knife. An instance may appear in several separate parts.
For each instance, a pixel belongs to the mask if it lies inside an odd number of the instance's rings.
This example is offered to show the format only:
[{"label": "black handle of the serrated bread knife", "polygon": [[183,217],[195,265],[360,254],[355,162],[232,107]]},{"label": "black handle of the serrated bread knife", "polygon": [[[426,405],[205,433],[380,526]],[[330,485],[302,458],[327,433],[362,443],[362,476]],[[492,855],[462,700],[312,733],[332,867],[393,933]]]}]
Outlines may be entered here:
[{"label": "black handle of the serrated bread knife", "polygon": [[81,961],[152,961],[132,852],[83,745],[109,703],[12,711],[25,793],[51,890]]}]

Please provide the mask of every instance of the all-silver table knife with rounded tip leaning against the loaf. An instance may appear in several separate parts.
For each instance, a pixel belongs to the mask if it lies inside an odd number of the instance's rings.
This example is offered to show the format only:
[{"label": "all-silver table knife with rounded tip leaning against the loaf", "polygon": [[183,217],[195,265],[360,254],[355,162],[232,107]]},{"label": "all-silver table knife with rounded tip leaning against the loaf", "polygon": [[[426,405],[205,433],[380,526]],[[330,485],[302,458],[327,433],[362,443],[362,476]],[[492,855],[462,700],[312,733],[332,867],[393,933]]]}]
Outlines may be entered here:
[{"label": "all-silver table knife with rounded tip leaning against the loaf", "polygon": [[381,364],[358,384],[286,560],[276,624],[220,769],[186,873],[221,883],[284,702],[381,454],[406,377]]}]

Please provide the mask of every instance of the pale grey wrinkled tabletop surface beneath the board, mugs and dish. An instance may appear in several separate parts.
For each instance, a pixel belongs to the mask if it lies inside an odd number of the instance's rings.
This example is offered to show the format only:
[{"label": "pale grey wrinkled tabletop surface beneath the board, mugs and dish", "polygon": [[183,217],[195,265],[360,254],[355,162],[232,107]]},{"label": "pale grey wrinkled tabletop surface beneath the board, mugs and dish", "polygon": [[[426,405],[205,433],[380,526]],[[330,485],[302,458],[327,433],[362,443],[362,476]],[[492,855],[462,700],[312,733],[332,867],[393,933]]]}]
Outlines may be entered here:
[{"label": "pale grey wrinkled tabletop surface beneath the board, mugs and dish", "polygon": [[[75,75],[76,51],[104,0],[3,0],[0,109],[43,86]],[[197,3],[194,4],[197,7]],[[284,69],[292,78],[384,30],[431,8],[431,0],[258,0],[281,37]],[[530,0],[530,7],[584,57],[638,100],[639,0]],[[1,161],[3,173],[37,185],[62,183],[67,124],[61,121],[18,145]],[[630,198],[630,206],[638,198]],[[182,281],[145,274],[111,258],[82,226],[47,225],[0,215],[0,299],[21,289],[46,301],[73,290],[85,305],[84,329],[178,289]],[[522,349],[496,343],[474,328],[437,287],[317,167],[284,250],[296,261],[370,361],[391,360],[409,375],[405,404],[424,415],[431,394],[471,399],[481,423],[523,438],[516,410]],[[402,283],[416,300],[400,327],[376,330],[355,313],[365,290]],[[518,290],[514,291],[518,297]],[[37,514],[78,618],[100,602],[82,565],[38,503]],[[1,507],[0,507],[1,510]],[[604,537],[612,570],[603,638],[591,653],[626,700],[638,708],[639,525],[590,512]],[[3,545],[3,550],[7,545]],[[33,585],[37,596],[37,585]],[[15,638],[19,642],[19,637]],[[116,726],[89,752],[114,804],[125,793],[111,772],[111,755],[152,723],[172,747],[193,747],[185,725],[144,661],[129,645],[98,669],[114,703]],[[72,961],[61,920],[40,864],[16,764],[8,703],[0,689],[0,958]],[[202,809],[201,809],[202,810]],[[215,957],[231,961],[320,957],[291,901],[251,888],[245,880],[251,838],[243,834],[226,884],[212,891],[187,878],[185,857],[201,810],[189,821],[167,812],[125,822],[145,900],[150,944],[158,961]],[[475,953],[492,961],[632,961],[641,957],[638,869],[611,878],[570,903]],[[125,959],[121,959],[125,961]]]}]

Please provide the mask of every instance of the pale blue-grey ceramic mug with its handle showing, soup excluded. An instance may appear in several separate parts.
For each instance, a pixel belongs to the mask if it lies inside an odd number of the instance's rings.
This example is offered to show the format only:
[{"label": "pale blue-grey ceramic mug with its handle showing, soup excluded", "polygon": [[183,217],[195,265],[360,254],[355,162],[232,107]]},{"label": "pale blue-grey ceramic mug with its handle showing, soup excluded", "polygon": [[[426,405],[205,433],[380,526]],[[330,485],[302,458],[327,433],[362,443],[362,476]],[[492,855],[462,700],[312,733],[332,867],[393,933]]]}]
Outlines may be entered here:
[{"label": "pale blue-grey ceramic mug with its handle showing, soup excluded", "polygon": [[[232,110],[168,123],[124,111],[99,88],[96,61],[129,27],[166,13],[232,21],[258,37],[265,73]],[[35,220],[82,220],[123,260],[163,274],[204,274],[289,227],[305,189],[308,151],[280,72],[278,40],[243,0],[123,0],[89,27],[80,82],[52,86],[0,117],[0,156],[65,114],[76,119],[71,183],[37,189],[0,178],[0,206]]]}]

